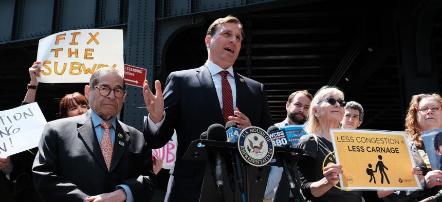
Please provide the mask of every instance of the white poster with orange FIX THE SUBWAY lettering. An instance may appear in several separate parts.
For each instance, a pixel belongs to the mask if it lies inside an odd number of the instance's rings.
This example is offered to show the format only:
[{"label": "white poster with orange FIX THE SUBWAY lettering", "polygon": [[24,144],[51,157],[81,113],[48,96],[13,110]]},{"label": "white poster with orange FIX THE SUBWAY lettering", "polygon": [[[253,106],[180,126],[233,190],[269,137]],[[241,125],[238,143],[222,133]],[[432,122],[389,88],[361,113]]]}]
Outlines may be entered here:
[{"label": "white poster with orange FIX THE SUBWAY lettering", "polygon": [[124,75],[123,31],[69,30],[40,39],[37,60],[42,62],[42,83],[88,83],[103,67]]}]

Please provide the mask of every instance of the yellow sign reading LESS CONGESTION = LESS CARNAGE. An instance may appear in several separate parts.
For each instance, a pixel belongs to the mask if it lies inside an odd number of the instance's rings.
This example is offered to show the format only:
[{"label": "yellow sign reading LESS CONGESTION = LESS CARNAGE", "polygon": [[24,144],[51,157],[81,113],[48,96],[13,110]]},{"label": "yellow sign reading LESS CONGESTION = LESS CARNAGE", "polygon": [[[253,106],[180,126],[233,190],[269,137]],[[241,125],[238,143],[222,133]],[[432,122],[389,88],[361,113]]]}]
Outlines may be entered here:
[{"label": "yellow sign reading LESS CONGESTION = LESS CARNAGE", "polygon": [[406,136],[399,132],[330,130],[343,190],[422,189]]}]

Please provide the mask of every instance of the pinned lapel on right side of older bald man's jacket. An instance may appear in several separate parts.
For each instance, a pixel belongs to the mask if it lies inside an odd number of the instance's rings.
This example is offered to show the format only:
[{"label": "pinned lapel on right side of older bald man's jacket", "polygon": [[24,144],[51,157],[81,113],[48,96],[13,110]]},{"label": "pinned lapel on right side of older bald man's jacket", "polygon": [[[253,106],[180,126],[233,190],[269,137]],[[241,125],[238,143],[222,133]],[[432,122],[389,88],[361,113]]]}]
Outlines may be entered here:
[{"label": "pinned lapel on right side of older bald man's jacket", "polygon": [[109,169],[109,172],[112,172],[112,170],[114,170],[118,165],[124,151],[126,151],[126,148],[129,145],[130,139],[126,126],[121,125],[119,120],[117,120],[116,124],[117,127],[115,130],[114,153],[112,154],[111,168]]}]

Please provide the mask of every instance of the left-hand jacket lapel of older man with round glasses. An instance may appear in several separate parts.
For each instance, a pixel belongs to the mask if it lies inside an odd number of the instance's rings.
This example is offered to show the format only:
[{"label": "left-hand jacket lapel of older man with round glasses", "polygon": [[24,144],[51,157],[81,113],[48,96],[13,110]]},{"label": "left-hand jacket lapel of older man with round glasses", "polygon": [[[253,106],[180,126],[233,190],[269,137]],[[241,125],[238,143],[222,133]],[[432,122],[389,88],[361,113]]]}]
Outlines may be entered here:
[{"label": "left-hand jacket lapel of older man with round glasses", "polygon": [[104,162],[103,154],[101,153],[100,143],[98,143],[97,135],[95,134],[94,126],[92,125],[92,120],[90,119],[90,114],[87,112],[86,120],[84,123],[78,123],[80,126],[77,131],[84,141],[86,148],[92,153],[95,160],[100,164],[100,166],[107,171],[106,163]]}]

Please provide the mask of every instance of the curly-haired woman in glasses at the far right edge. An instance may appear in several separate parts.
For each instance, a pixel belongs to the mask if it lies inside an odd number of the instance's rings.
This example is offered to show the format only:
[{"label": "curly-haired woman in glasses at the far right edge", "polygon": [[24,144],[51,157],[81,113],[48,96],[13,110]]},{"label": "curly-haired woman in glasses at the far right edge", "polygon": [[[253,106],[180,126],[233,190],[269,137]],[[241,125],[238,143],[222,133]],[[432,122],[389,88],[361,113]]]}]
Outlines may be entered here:
[{"label": "curly-haired woman in glasses at the far right edge", "polygon": [[425,175],[425,181],[423,181],[425,190],[395,192],[385,197],[385,201],[418,201],[436,195],[442,189],[442,171],[431,170],[420,134],[423,131],[442,128],[441,104],[442,98],[436,93],[413,95],[405,119],[405,131],[411,143],[415,164]]}]

